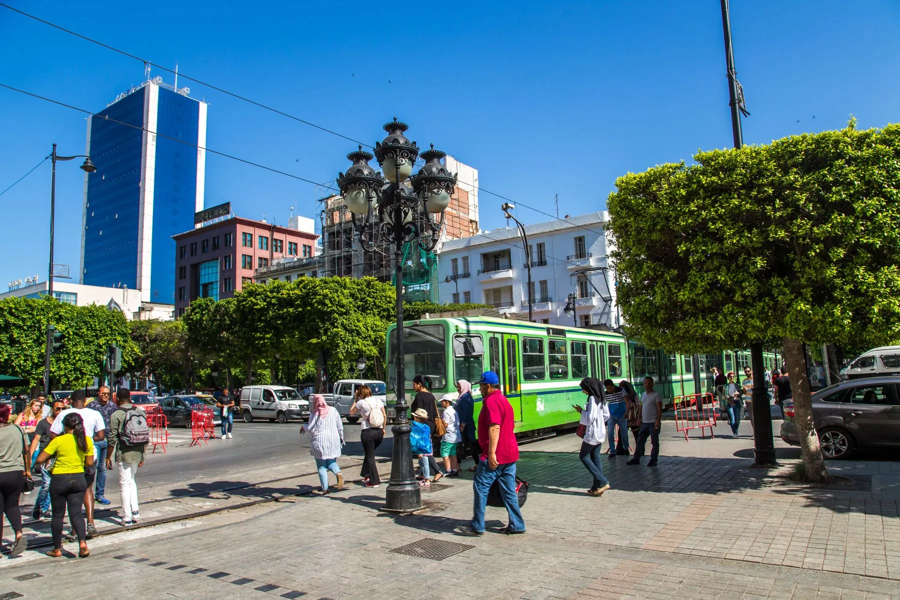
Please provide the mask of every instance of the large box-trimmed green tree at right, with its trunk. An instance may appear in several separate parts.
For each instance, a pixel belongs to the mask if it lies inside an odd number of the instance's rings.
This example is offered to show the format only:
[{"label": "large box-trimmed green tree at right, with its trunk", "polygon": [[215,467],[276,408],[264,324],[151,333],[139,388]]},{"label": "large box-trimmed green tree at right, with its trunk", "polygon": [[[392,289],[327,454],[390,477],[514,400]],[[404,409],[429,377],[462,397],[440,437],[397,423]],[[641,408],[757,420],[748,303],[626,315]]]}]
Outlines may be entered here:
[{"label": "large box-trimmed green tree at right, with its trunk", "polygon": [[804,343],[900,339],[900,126],[700,152],[617,180],[617,299],[648,345],[783,345],[807,478],[827,480]]}]

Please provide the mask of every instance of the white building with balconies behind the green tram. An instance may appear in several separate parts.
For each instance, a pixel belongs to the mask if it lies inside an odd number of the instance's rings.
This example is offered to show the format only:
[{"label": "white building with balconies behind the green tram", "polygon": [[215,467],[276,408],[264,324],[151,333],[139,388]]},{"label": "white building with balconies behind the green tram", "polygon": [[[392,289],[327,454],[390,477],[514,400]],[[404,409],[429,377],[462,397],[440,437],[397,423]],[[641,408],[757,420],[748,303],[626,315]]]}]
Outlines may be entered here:
[{"label": "white building with balconies behind the green tram", "polygon": [[[608,219],[608,212],[590,212],[525,227],[536,322],[620,325],[604,233]],[[485,303],[527,315],[526,258],[518,228],[449,240],[437,268],[441,303]],[[565,312],[567,303],[574,314]]]}]

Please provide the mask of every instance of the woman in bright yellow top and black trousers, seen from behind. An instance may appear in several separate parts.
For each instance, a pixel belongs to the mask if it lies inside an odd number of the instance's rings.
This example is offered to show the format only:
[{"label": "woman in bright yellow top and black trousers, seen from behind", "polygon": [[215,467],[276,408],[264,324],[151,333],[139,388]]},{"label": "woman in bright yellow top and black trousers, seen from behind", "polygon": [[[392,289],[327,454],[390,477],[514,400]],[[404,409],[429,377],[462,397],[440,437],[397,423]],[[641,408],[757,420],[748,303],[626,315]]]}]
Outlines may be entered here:
[{"label": "woman in bright yellow top and black trousers, seen from behind", "polygon": [[94,440],[85,433],[85,422],[77,413],[65,416],[62,425],[65,433],[50,440],[37,460],[42,466],[50,457],[55,459],[53,466],[48,467],[52,473],[50,506],[53,507],[53,520],[50,531],[53,533],[53,550],[47,552],[47,556],[62,556],[62,522],[68,506],[68,520],[72,531],[78,536],[78,556],[84,559],[90,556],[91,551],[87,549],[87,529],[81,504],[87,489],[85,467],[94,465]]}]

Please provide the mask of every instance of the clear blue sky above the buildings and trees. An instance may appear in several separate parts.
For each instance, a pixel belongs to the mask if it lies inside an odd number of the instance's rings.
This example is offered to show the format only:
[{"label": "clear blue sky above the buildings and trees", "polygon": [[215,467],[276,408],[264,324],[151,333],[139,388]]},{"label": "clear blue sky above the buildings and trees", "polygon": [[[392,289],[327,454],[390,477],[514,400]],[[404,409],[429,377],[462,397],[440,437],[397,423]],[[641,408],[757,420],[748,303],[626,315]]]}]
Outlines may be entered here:
[{"label": "clear blue sky above the buildings and trees", "polygon": [[[410,138],[479,169],[526,223],[605,208],[618,175],[731,145],[719,3],[455,4],[4,0],[50,22],[374,144],[397,115]],[[392,10],[393,9],[393,10]],[[396,14],[396,16],[395,16]],[[744,141],[897,121],[900,4],[733,0]],[[166,83],[172,77],[160,71]],[[99,111],[143,78],[138,61],[0,7],[0,83]],[[330,183],[355,148],[193,82],[207,145]],[[58,143],[85,151],[84,115],[0,89],[0,191]],[[83,177],[58,166],[58,263],[77,271]],[[284,223],[314,217],[311,184],[208,156],[206,205]],[[505,224],[482,191],[483,228]],[[45,279],[49,162],[0,196],[6,282]]]}]

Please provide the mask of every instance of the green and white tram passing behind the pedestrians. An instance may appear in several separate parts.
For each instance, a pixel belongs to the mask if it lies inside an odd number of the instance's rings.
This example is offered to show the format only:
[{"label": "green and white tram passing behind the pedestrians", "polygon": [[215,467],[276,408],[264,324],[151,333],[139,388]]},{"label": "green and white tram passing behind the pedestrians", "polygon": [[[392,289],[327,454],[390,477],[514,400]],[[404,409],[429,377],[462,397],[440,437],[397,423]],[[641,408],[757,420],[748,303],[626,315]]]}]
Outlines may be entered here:
[{"label": "green and white tram passing behind the pedestrians", "polygon": [[[685,356],[645,348],[639,342],[600,327],[565,327],[481,315],[447,316],[406,321],[403,324],[405,388],[412,394],[417,374],[431,380],[437,399],[456,394],[455,381],[479,381],[482,372],[500,376],[500,386],[516,415],[520,436],[544,434],[578,421],[573,404],[584,404],[579,383],[585,377],[632,381],[643,390],[644,377],[656,381],[656,390],[671,405],[676,396],[711,389],[707,377],[714,365],[743,370],[750,354],[720,353]],[[388,403],[397,389],[396,326],[387,331]],[[776,356],[767,354],[767,367]],[[699,379],[698,374],[704,378]],[[708,381],[707,381],[708,380]],[[480,398],[473,386],[476,402]],[[479,405],[476,404],[476,413]]]}]

